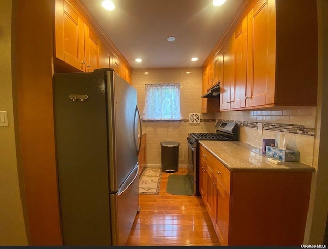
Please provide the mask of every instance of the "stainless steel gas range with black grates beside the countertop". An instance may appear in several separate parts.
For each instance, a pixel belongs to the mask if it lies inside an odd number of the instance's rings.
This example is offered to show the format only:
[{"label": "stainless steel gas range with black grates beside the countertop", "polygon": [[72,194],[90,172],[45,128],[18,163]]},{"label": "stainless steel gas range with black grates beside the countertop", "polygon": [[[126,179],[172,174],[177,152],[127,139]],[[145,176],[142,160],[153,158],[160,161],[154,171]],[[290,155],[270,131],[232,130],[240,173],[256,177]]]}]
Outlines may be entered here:
[{"label": "stainless steel gas range with black grates beside the countertop", "polygon": [[239,125],[235,122],[218,121],[215,124],[215,132],[189,132],[188,141],[188,175],[194,189],[194,195],[200,195],[199,182],[199,143],[200,140],[208,141],[238,141]]}]

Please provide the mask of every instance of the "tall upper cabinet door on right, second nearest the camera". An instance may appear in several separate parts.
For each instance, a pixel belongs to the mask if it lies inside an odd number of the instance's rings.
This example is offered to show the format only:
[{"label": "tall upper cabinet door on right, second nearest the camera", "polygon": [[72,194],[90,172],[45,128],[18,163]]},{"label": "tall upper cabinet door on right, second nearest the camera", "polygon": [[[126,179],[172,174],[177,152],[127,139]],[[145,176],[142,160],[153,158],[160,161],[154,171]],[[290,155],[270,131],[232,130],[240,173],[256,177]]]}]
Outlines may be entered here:
[{"label": "tall upper cabinet door on right, second nearest the camera", "polygon": [[247,53],[247,18],[237,27],[232,35],[232,71],[230,108],[246,105],[246,53]]}]

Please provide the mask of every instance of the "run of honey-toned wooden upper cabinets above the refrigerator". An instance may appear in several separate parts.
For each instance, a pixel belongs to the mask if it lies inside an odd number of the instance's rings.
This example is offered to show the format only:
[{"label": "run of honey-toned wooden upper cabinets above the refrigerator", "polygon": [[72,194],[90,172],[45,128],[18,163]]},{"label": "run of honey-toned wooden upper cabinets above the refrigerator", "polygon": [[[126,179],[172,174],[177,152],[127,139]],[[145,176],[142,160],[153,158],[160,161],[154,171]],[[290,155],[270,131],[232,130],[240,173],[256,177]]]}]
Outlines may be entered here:
[{"label": "run of honey-toned wooden upper cabinets above the refrigerator", "polygon": [[101,35],[84,8],[75,0],[55,1],[55,71],[93,72],[97,68],[113,68],[131,84],[130,65],[112,41]]}]

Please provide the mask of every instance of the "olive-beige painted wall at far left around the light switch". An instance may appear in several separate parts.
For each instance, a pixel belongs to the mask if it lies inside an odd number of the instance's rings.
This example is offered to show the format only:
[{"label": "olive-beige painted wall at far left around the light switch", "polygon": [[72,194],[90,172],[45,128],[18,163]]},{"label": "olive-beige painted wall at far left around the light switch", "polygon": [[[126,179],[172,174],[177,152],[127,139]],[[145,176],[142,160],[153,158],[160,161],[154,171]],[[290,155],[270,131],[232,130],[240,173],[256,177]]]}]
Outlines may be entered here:
[{"label": "olive-beige painted wall at far left around the light switch", "polygon": [[12,0],[0,1],[0,111],[8,127],[0,127],[0,245],[27,245],[16,159],[12,68]]}]

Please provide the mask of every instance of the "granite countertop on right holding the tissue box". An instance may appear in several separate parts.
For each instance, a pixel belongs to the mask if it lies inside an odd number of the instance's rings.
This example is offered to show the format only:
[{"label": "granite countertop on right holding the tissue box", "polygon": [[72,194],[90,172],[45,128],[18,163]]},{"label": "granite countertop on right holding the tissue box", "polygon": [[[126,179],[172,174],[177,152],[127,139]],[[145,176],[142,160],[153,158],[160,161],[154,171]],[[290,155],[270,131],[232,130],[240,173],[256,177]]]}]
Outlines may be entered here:
[{"label": "granite countertop on right holding the tissue box", "polygon": [[199,141],[230,171],[315,171],[315,168],[301,162],[282,162],[276,165],[268,162],[269,156],[262,149],[240,141]]}]

